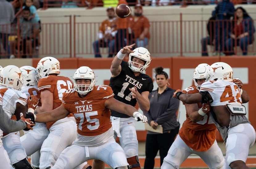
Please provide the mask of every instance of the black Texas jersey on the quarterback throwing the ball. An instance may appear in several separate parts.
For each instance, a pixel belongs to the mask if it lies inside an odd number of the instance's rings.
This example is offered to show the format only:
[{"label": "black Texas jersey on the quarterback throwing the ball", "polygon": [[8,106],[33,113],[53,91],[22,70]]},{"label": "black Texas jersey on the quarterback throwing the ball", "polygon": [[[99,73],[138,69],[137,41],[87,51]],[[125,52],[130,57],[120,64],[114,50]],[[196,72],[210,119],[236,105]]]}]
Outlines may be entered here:
[{"label": "black Texas jersey on the quarterback throwing the ball", "polygon": [[[128,105],[135,106],[137,103],[136,99],[132,98],[131,91],[132,87],[136,87],[139,93],[153,90],[153,81],[151,77],[144,73],[140,73],[139,76],[135,76],[134,72],[129,68],[128,63],[122,61],[122,70],[120,74],[116,77],[110,78],[109,86],[114,92],[114,98],[118,101],[126,103]],[[130,116],[116,111],[111,110],[111,116],[128,118]]]}]

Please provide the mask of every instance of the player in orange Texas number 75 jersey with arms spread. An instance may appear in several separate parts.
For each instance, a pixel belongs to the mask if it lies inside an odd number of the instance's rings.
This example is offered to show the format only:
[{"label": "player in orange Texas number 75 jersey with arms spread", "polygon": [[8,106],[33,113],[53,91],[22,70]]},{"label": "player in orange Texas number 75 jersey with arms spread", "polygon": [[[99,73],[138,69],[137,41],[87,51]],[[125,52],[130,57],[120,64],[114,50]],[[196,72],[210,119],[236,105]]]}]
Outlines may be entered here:
[{"label": "player in orange Texas number 75 jersey with arms spread", "polygon": [[76,70],[73,76],[74,89],[67,90],[63,104],[50,112],[37,115],[37,122],[50,122],[74,114],[77,124],[77,139],[60,155],[53,169],[70,169],[89,159],[99,159],[112,168],[128,166],[122,147],[115,142],[110,122],[109,109],[147,122],[147,117],[130,105],[114,99],[107,85],[94,86],[94,72],[86,66]]}]

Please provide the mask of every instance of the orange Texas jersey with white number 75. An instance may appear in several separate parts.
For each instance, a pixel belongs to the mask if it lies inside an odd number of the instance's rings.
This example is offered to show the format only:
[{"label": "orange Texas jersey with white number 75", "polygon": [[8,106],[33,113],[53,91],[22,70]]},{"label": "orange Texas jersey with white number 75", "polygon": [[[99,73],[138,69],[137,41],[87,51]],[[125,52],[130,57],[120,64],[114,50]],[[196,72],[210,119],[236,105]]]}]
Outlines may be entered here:
[{"label": "orange Texas jersey with white number 75", "polygon": [[114,93],[107,85],[94,86],[84,98],[74,89],[64,93],[64,107],[74,114],[78,134],[97,136],[111,128],[110,111],[105,107],[105,101],[112,97]]}]

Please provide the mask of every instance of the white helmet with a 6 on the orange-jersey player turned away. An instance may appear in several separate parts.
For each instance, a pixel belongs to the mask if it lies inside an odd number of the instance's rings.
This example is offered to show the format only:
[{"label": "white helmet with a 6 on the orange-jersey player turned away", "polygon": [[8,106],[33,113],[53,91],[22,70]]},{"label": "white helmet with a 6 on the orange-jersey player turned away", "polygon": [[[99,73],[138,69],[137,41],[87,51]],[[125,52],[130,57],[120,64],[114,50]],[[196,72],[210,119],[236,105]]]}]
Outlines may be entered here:
[{"label": "white helmet with a 6 on the orange-jersey player turned away", "polygon": [[49,74],[60,74],[60,62],[54,57],[44,57],[41,59],[36,67],[38,75],[36,80],[40,80]]}]

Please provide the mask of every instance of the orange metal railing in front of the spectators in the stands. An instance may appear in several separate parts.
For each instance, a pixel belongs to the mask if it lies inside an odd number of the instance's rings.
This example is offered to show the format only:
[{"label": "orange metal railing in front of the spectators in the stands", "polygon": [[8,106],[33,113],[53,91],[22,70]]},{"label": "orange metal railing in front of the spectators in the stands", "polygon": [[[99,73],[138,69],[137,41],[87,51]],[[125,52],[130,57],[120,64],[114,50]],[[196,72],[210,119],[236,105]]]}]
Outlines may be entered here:
[{"label": "orange metal railing in front of the spectators in the stands", "polygon": [[[8,42],[4,43],[4,38],[1,39],[2,46],[3,44],[13,45],[10,41],[14,41],[15,38],[19,40],[20,42],[17,42],[21,45],[17,45],[13,53],[18,58],[35,56],[37,51],[37,56],[91,57],[100,56],[100,54],[114,56],[123,46],[136,43],[137,37],[134,37],[132,29],[117,30],[111,39],[99,39],[98,30],[101,23],[80,22],[83,17],[88,16],[64,16],[61,17],[63,22],[60,23],[41,23],[38,38],[29,36],[32,39],[39,39],[38,46],[29,48],[33,50],[27,50],[25,44],[21,43],[24,38],[20,35],[22,30],[18,22],[16,29],[12,29],[11,38],[6,38]],[[243,38],[235,36],[233,39],[231,34],[235,34],[234,22],[236,21],[188,21],[182,18],[180,14],[179,20],[150,22],[150,39],[146,47],[151,56],[201,56],[206,55],[207,52],[209,55],[254,55],[256,53],[254,43],[256,20],[243,22],[243,29],[249,32],[248,35]],[[112,46],[109,48],[110,45]],[[4,49],[7,49],[7,46]],[[0,56],[12,54],[4,49],[0,48]]]}]

